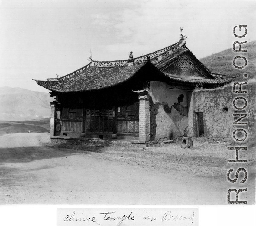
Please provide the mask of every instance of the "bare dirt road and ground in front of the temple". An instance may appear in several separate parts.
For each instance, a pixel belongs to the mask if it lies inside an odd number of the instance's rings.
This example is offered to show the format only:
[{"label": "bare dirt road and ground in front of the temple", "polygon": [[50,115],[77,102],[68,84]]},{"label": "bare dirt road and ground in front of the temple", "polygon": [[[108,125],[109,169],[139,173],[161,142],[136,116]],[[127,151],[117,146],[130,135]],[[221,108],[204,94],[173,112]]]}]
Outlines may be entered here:
[{"label": "bare dirt road and ground in front of the temple", "polygon": [[[239,150],[247,163],[228,163],[228,142],[193,139],[173,144],[94,147],[81,141],[50,143],[48,133],[0,136],[0,204],[227,204],[230,188],[255,203],[255,149]],[[230,183],[227,171],[245,168]],[[234,193],[234,194],[233,194]],[[235,192],[231,193],[235,200]]]}]

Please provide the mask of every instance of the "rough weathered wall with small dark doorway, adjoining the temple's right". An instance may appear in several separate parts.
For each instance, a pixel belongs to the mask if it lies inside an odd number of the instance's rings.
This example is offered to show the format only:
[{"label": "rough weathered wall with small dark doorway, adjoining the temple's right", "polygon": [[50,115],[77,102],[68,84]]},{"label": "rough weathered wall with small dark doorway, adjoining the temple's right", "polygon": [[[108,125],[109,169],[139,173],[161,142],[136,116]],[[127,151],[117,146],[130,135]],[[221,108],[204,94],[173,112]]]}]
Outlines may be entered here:
[{"label": "rough weathered wall with small dark doorway, adjoining the temple's right", "polygon": [[[246,87],[246,88],[245,88]],[[197,137],[197,119],[195,112],[203,112],[204,117],[204,137],[207,138],[232,138],[233,131],[241,128],[245,129],[248,138],[255,134],[256,120],[256,90],[254,85],[243,85],[242,90],[247,90],[245,93],[233,93],[233,87],[228,86],[224,89],[216,90],[201,90],[193,91],[190,110],[189,110],[189,125],[188,131],[190,137]],[[247,125],[234,125],[234,115],[239,114],[233,107],[233,99],[236,97],[244,97],[247,99],[247,107],[244,109],[247,116],[239,122],[247,122]],[[239,103],[236,102],[236,106]],[[244,102],[241,103],[244,106]],[[223,108],[228,108],[227,112],[223,112]],[[241,116],[237,116],[241,117]],[[237,118],[238,119],[238,118]],[[244,137],[244,136],[243,136]],[[247,138],[247,140],[248,140]],[[241,139],[241,138],[240,138]]]}]

